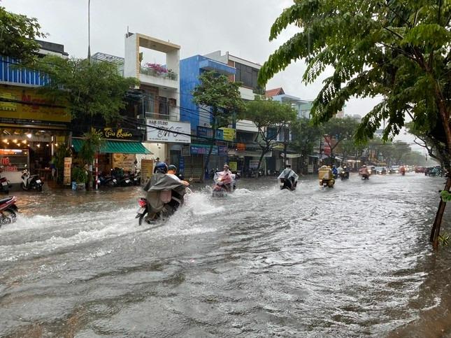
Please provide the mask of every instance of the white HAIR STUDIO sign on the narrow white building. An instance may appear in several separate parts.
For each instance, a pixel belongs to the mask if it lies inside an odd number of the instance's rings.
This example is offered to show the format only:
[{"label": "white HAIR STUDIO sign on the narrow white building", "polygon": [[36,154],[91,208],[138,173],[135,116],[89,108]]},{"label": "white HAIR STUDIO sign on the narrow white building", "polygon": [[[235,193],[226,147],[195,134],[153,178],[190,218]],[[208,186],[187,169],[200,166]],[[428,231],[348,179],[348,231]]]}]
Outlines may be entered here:
[{"label": "white HAIR STUDIO sign on the narrow white building", "polygon": [[191,143],[189,135],[191,135],[189,122],[147,119],[147,141]]}]

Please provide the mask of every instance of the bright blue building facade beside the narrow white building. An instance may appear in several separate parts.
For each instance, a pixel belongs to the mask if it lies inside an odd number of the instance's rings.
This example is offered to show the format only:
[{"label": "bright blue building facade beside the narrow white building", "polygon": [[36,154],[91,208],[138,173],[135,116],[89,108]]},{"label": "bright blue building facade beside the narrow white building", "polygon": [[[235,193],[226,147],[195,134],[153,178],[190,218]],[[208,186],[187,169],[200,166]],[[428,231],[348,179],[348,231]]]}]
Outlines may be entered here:
[{"label": "bright blue building facade beside the narrow white building", "polygon": [[[236,69],[202,55],[180,60],[180,121],[190,122],[192,134],[198,136],[207,135],[211,122],[210,113],[206,108],[194,104],[192,96],[192,91],[200,84],[199,76],[204,71],[216,71],[231,76],[235,74]],[[205,174],[201,172],[201,168],[209,147],[204,139],[192,139],[189,152],[185,151],[185,176],[197,178]],[[218,142],[217,146],[213,147],[207,171],[222,168],[225,161],[227,161],[227,145]]]}]

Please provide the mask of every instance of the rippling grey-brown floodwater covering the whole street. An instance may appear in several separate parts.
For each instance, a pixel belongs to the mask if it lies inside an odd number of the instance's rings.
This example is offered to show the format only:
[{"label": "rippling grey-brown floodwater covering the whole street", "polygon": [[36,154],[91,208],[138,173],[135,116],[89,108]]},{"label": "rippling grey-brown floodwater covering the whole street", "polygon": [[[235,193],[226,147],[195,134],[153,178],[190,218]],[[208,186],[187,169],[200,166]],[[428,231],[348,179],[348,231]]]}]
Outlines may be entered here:
[{"label": "rippling grey-brown floodwater covering the whole street", "polygon": [[137,187],[18,192],[0,229],[0,336],[449,336],[451,246],[429,245],[443,181],[242,179],[217,199],[195,185],[141,227]]}]

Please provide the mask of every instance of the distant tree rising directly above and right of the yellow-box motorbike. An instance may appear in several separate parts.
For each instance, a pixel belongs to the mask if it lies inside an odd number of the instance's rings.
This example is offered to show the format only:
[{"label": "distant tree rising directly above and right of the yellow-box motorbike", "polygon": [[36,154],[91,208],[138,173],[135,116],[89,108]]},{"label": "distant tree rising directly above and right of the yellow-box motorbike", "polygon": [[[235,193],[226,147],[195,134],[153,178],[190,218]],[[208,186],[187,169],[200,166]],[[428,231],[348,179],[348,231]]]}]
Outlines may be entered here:
[{"label": "distant tree rising directly above and right of the yellow-box motorbike", "polygon": [[335,158],[334,149],[344,140],[351,140],[357,130],[357,121],[353,118],[331,118],[324,123],[323,132],[328,137],[324,143],[331,148],[331,157]]}]

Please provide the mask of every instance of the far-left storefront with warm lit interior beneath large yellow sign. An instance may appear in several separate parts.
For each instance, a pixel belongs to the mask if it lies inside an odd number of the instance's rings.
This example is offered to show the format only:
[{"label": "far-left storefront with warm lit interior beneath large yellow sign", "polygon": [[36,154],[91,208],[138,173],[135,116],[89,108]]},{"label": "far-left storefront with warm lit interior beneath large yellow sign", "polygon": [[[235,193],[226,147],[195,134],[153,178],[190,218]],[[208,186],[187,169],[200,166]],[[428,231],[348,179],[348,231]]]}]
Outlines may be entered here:
[{"label": "far-left storefront with warm lit interior beneath large yellow sign", "polygon": [[2,176],[20,183],[27,169],[50,180],[52,157],[69,140],[68,108],[30,87],[0,85],[0,98]]}]

